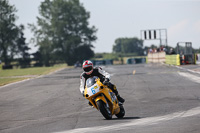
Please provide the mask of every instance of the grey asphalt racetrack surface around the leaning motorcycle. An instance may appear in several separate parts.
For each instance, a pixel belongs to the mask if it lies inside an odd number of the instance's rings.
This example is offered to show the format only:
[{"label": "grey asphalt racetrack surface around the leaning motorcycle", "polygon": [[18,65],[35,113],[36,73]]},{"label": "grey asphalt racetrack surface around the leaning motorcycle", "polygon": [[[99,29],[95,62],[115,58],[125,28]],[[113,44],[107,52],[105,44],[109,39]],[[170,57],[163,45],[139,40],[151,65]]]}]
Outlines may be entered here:
[{"label": "grey asphalt racetrack surface around the leaning motorcycle", "polygon": [[126,115],[105,120],[79,91],[78,69],[0,88],[0,133],[200,133],[200,74],[162,64],[105,66]]}]

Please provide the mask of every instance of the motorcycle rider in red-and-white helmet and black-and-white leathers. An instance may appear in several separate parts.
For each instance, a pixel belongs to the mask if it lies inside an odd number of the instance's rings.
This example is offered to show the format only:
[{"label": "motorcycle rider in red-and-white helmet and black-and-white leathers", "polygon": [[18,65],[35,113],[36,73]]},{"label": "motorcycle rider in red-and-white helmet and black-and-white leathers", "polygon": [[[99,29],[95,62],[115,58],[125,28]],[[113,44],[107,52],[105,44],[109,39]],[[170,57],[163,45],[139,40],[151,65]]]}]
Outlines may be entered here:
[{"label": "motorcycle rider in red-and-white helmet and black-and-white leathers", "polygon": [[90,60],[86,60],[83,63],[83,70],[84,72],[81,74],[81,83],[80,83],[80,91],[82,94],[84,94],[85,90],[85,83],[86,80],[92,76],[97,76],[100,78],[100,81],[103,84],[108,85],[108,87],[116,94],[117,99],[121,102],[124,103],[124,99],[120,97],[117,88],[114,84],[110,83],[110,74],[102,70],[101,67],[93,68],[93,63]]}]

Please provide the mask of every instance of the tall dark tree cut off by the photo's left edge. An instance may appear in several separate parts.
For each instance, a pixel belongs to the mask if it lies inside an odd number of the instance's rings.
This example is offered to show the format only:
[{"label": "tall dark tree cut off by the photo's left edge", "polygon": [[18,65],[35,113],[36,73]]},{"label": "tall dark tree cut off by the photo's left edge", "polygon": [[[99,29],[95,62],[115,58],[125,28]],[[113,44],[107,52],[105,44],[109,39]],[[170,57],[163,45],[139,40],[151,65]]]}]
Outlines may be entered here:
[{"label": "tall dark tree cut off by the photo's left edge", "polygon": [[18,27],[15,25],[16,8],[9,5],[8,0],[0,1],[0,55],[5,66],[10,65],[16,52]]}]

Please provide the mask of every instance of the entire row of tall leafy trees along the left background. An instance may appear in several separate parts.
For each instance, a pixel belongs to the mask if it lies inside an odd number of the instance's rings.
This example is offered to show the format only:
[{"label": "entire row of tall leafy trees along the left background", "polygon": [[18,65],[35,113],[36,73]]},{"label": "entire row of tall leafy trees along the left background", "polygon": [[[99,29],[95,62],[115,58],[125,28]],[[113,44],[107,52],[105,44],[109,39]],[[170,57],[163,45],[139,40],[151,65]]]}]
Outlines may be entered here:
[{"label": "entire row of tall leafy trees along the left background", "polygon": [[[25,42],[24,25],[15,24],[17,9],[8,0],[0,1],[0,59],[9,67],[18,58],[22,67],[30,64]],[[29,24],[32,41],[39,46],[33,53],[37,66],[65,62],[72,65],[94,56],[93,45],[97,29],[89,26],[90,13],[79,0],[45,0],[39,7],[37,25]]]}]

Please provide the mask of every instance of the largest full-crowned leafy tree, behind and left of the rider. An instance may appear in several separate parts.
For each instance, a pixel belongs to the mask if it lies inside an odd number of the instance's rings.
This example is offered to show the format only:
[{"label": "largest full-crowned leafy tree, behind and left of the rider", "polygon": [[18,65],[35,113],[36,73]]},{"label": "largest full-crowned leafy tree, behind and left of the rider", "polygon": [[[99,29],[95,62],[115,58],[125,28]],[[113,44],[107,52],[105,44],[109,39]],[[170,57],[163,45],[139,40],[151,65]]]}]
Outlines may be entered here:
[{"label": "largest full-crowned leafy tree, behind and left of the rider", "polygon": [[31,27],[46,65],[56,55],[68,65],[76,62],[75,57],[89,58],[93,55],[87,56],[81,50],[87,47],[92,51],[91,43],[96,40],[96,29],[89,27],[90,14],[79,0],[45,0],[40,5],[39,13],[38,27]]}]

